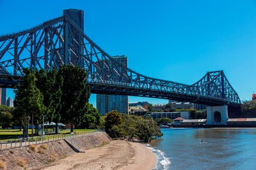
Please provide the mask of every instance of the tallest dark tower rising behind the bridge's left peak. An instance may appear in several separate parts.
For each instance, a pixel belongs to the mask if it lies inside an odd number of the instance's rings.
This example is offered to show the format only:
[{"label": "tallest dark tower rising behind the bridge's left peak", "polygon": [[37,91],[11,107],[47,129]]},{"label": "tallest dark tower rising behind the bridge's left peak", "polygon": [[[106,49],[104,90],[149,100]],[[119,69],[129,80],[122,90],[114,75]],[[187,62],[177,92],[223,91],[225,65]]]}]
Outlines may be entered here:
[{"label": "tallest dark tower rising behind the bridge's left peak", "polygon": [[[83,10],[76,10],[76,9],[69,9],[69,10],[63,10],[63,15],[68,15],[71,20],[84,32],[84,11]],[[70,27],[71,32],[74,31],[74,27]],[[68,29],[68,34],[70,33]],[[73,37],[76,39],[77,42],[80,41],[82,43],[81,39],[79,40],[79,34],[74,33]],[[74,41],[72,41],[71,37],[68,37],[68,43],[74,45]],[[83,47],[80,48],[81,53],[83,53]]]}]

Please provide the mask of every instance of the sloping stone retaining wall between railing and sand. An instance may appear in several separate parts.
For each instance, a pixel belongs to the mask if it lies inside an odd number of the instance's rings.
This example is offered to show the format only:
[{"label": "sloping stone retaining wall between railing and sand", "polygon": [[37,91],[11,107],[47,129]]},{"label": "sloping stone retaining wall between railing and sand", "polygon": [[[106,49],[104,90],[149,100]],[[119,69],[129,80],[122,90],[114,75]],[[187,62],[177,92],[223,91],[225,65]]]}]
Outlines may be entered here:
[{"label": "sloping stone retaining wall between railing and sand", "polygon": [[[99,146],[110,139],[106,132],[76,138],[84,149]],[[33,146],[35,150],[33,150]],[[42,144],[33,146],[24,146],[0,152],[0,169],[1,164],[4,169],[41,169],[49,163],[54,164],[52,162],[55,160],[76,153],[64,140],[44,143],[43,146]]]}]

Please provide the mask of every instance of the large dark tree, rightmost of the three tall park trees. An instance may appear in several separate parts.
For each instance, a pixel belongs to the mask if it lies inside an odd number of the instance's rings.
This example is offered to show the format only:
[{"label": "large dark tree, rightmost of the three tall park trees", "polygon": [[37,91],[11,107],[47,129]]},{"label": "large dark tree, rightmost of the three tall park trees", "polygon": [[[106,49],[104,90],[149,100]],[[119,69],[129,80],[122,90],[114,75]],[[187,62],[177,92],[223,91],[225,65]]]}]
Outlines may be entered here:
[{"label": "large dark tree, rightmost of the three tall park trees", "polygon": [[70,122],[70,132],[74,132],[74,118],[86,114],[86,106],[88,106],[86,103],[91,95],[90,87],[86,87],[86,71],[81,67],[65,64],[60,66],[59,74],[63,77],[61,119]]}]

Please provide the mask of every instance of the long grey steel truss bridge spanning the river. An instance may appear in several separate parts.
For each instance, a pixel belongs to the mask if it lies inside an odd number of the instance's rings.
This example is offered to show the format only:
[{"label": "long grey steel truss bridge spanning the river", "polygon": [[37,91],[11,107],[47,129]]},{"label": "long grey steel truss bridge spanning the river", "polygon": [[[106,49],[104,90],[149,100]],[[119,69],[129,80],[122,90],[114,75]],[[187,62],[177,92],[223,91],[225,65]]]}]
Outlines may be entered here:
[{"label": "long grey steel truss bridge spanning the river", "polygon": [[223,71],[207,72],[193,85],[144,76],[104,52],[67,15],[0,36],[0,87],[13,88],[22,83],[23,67],[49,70],[63,64],[86,69],[87,83],[94,94],[241,106]]}]

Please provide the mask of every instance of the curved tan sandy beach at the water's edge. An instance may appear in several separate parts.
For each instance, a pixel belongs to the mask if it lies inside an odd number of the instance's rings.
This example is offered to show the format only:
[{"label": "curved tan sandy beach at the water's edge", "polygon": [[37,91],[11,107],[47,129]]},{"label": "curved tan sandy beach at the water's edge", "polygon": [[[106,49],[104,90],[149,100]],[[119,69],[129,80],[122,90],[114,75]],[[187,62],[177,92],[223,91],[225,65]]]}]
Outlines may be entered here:
[{"label": "curved tan sandy beach at the water's edge", "polygon": [[113,140],[57,160],[45,169],[154,169],[156,161],[156,155],[140,143]]}]

